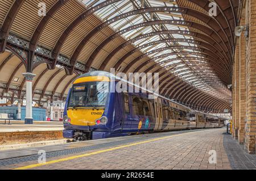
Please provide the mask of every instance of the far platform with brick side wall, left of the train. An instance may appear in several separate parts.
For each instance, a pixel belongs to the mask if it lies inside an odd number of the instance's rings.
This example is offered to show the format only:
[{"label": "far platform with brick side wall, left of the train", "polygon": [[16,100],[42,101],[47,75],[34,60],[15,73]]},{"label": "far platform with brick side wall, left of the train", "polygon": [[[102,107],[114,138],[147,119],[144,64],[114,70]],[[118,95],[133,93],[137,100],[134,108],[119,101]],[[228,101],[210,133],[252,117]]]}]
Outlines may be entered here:
[{"label": "far platform with brick side wall, left of the train", "polygon": [[11,120],[10,124],[0,121],[0,150],[60,143],[67,140],[62,132],[62,121],[35,121],[27,125],[18,120]]}]

